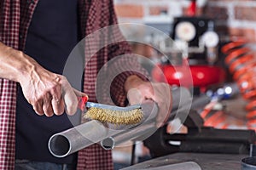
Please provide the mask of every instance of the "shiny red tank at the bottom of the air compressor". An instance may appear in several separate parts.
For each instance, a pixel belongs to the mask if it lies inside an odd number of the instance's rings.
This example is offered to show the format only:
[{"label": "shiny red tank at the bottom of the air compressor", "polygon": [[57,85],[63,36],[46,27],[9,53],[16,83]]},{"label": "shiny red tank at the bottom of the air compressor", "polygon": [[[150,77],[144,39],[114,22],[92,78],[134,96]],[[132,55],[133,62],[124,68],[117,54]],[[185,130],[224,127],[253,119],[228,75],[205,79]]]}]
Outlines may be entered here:
[{"label": "shiny red tank at the bottom of the air compressor", "polygon": [[[159,69],[152,71],[152,76],[157,82],[183,86],[187,88],[198,87],[204,91],[209,85],[224,82],[225,72],[220,66],[215,65],[158,65]],[[163,77],[163,74],[165,77]],[[191,81],[192,78],[192,81]]]}]

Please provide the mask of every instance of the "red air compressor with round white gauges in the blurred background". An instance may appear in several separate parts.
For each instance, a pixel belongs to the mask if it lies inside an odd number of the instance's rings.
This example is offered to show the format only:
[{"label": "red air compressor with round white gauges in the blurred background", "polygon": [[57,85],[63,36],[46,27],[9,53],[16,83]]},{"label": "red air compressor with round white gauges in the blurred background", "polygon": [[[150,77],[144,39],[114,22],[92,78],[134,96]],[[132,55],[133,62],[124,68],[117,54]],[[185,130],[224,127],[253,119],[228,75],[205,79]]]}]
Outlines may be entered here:
[{"label": "red air compressor with round white gauges in the blurred background", "polygon": [[[173,64],[173,56],[166,56],[167,63],[158,65],[152,71],[157,82],[166,82],[187,88],[204,90],[209,85],[224,82],[225,71],[218,66],[218,34],[214,31],[214,21],[205,17],[195,17],[195,0],[191,1],[187,17],[177,17],[172,26],[172,37],[180,49],[179,64]],[[168,54],[168,52],[167,52]],[[164,75],[164,76],[163,76]]]}]

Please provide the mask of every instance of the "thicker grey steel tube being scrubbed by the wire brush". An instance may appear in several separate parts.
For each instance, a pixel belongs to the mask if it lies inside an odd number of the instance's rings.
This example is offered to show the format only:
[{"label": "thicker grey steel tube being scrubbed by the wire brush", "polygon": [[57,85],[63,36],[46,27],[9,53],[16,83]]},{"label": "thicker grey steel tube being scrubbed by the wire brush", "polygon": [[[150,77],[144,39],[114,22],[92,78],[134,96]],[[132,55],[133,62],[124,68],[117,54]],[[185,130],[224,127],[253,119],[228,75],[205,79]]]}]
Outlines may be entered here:
[{"label": "thicker grey steel tube being scrubbed by the wire brush", "polygon": [[[156,105],[153,101],[142,104],[142,111],[145,114],[143,122],[147,122],[148,118],[151,120],[151,115],[156,115],[156,113],[151,114],[155,107]],[[67,129],[61,133],[55,133],[51,136],[48,143],[49,152],[55,157],[65,157],[91,144],[100,143],[103,139],[108,139],[117,133],[129,132],[131,128],[137,126],[139,125],[132,127],[119,126],[119,129],[114,129],[115,125],[108,124],[106,126],[102,122],[95,120],[85,122],[77,127]]]}]

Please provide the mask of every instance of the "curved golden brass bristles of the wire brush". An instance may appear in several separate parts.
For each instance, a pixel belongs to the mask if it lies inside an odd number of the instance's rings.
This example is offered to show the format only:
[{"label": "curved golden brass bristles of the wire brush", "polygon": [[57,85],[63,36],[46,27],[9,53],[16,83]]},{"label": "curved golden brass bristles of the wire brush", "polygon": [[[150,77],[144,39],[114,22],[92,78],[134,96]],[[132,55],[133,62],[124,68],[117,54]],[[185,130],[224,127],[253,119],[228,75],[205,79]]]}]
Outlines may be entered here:
[{"label": "curved golden brass bristles of the wire brush", "polygon": [[91,107],[86,112],[85,117],[100,122],[108,122],[117,125],[131,125],[141,122],[143,119],[143,111],[141,109],[135,109],[131,111],[112,111]]}]

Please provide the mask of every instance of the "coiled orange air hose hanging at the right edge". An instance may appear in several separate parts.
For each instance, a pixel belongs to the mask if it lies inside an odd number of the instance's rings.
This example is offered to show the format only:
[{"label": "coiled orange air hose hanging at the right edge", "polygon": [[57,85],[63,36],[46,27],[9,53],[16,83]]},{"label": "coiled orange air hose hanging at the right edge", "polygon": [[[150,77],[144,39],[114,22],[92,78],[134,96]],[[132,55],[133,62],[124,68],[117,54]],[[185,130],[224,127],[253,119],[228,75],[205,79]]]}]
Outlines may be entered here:
[{"label": "coiled orange air hose hanging at the right edge", "polygon": [[241,95],[247,100],[247,127],[256,130],[256,59],[247,42],[238,39],[229,42],[221,49],[227,54],[225,64],[229,66],[234,81],[240,88]]}]

